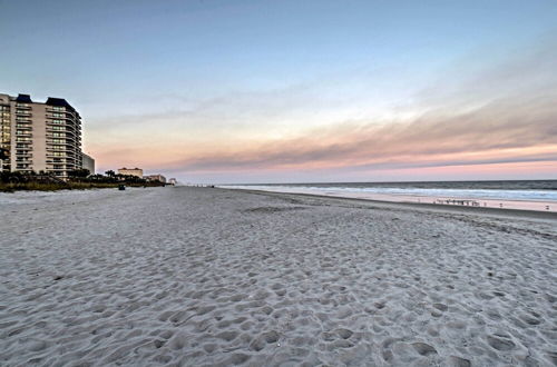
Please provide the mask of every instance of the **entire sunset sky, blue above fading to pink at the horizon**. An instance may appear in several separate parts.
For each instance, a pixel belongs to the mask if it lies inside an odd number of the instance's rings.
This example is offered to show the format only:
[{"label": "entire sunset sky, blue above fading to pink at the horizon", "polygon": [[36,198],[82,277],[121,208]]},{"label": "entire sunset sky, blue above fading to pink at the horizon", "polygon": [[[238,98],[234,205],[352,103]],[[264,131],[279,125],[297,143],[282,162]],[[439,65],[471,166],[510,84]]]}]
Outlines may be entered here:
[{"label": "entire sunset sky, blue above fading to pink at the horizon", "polygon": [[0,0],[0,56],[98,172],[557,179],[554,0]]}]

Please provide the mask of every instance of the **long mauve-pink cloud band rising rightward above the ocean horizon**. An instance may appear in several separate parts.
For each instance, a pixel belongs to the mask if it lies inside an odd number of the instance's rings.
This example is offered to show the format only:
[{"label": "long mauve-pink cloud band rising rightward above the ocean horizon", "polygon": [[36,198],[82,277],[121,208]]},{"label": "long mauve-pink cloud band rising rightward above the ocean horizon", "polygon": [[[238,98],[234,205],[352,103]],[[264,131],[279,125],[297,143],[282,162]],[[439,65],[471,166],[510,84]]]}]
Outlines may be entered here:
[{"label": "long mauve-pink cloud band rising rightward above the ocean horizon", "polygon": [[[295,139],[264,141],[236,151],[204,152],[168,165],[183,170],[343,167],[400,162],[431,166],[438,160],[477,162],[505,155],[521,161],[536,149],[557,145],[557,93],[505,99],[460,113],[430,111],[404,123],[346,122]],[[473,157],[463,159],[456,157]],[[476,156],[483,158],[476,158]],[[437,157],[437,158],[436,158]],[[383,162],[383,163],[381,163]],[[422,163],[420,163],[422,162]],[[375,166],[375,167],[379,167]],[[371,166],[370,166],[371,167]]]}]

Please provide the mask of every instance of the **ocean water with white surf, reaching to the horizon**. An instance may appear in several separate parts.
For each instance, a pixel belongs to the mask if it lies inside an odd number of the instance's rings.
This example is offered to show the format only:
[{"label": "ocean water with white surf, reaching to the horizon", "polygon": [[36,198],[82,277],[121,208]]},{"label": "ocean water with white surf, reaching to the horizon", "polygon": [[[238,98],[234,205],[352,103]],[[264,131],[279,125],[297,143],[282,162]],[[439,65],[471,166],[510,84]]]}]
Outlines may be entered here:
[{"label": "ocean water with white surf, reaching to the horizon", "polygon": [[[384,201],[449,204],[557,211],[557,180],[219,185],[223,188]],[[450,202],[456,205],[456,202]]]}]

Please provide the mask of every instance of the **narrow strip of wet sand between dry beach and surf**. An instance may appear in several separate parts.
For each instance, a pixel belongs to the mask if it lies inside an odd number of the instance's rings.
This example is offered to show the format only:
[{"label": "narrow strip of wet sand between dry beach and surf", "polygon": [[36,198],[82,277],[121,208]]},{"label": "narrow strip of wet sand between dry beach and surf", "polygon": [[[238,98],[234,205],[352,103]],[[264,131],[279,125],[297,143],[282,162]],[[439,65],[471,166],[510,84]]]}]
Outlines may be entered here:
[{"label": "narrow strip of wet sand between dry beach and surf", "polygon": [[456,205],[442,205],[442,204],[431,204],[431,202],[387,201],[387,200],[351,198],[351,197],[329,196],[329,195],[307,194],[307,192],[282,192],[282,191],[266,191],[266,190],[232,189],[222,187],[218,187],[218,189],[244,191],[244,192],[270,195],[270,196],[302,196],[302,197],[315,197],[315,198],[323,198],[331,200],[346,200],[351,202],[355,201],[361,204],[373,204],[382,207],[401,207],[401,208],[430,209],[430,210],[433,209],[438,211],[452,211],[458,214],[478,214],[478,215],[489,215],[489,216],[507,217],[507,218],[532,218],[532,219],[557,220],[557,212],[555,211],[456,206]]}]

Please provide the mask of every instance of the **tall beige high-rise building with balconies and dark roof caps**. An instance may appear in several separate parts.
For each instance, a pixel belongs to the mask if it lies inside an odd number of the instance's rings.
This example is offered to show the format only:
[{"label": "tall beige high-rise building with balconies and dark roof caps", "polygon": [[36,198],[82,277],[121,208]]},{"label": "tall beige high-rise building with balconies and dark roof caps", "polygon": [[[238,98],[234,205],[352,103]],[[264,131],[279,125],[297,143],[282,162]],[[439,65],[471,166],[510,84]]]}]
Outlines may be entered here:
[{"label": "tall beige high-rise building with balconies and dark roof caps", "polygon": [[61,98],[36,102],[29,95],[0,95],[0,148],[10,157],[3,170],[66,178],[82,168],[81,118]]}]

